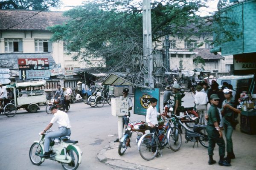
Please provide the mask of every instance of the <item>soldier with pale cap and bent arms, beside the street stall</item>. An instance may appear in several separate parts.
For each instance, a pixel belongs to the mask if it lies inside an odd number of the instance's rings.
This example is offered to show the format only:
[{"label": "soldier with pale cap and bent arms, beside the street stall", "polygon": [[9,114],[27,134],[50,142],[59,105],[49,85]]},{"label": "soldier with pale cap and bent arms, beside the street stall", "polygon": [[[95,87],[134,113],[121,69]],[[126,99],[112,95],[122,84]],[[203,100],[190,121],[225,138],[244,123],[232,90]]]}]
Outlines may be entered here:
[{"label": "soldier with pale cap and bent arms, beside the street stall", "polygon": [[[227,139],[227,162],[231,162],[231,159],[235,159],[235,154],[233,152],[233,142],[232,142],[232,133],[233,133],[233,123],[234,119],[237,117],[237,113],[241,113],[239,109],[236,109],[237,104],[235,98],[232,96],[232,90],[229,88],[223,89],[224,100],[222,104],[221,114],[223,116],[224,123],[224,132]],[[232,126],[233,125],[233,126]]]}]

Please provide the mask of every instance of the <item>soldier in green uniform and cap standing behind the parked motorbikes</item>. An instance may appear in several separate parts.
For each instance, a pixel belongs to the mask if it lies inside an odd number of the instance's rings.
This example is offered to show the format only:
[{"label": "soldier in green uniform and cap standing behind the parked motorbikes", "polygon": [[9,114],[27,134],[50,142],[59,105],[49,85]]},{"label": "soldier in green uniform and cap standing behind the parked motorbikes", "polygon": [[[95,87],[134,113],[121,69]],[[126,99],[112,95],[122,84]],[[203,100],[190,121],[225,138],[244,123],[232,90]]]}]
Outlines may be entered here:
[{"label": "soldier in green uniform and cap standing behind the parked motorbikes", "polygon": [[[172,92],[175,94],[174,96],[174,109],[173,109],[173,113],[177,116],[180,116],[180,110],[181,110],[181,94],[178,91],[180,89],[180,85],[179,84],[175,84],[172,86]],[[180,129],[180,133],[182,133],[181,130],[181,126],[178,125],[179,129]]]}]

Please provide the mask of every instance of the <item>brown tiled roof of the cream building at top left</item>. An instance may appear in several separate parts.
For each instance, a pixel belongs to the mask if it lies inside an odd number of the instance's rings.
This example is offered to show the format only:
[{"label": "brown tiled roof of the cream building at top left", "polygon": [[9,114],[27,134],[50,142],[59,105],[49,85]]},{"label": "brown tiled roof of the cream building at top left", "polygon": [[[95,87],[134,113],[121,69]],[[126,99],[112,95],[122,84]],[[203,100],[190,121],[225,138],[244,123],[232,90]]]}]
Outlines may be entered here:
[{"label": "brown tiled roof of the cream building at top left", "polygon": [[[0,9],[0,30],[4,30],[31,17],[39,11]],[[11,30],[47,30],[48,26],[65,23],[63,12],[42,11],[30,19],[10,28]]]}]

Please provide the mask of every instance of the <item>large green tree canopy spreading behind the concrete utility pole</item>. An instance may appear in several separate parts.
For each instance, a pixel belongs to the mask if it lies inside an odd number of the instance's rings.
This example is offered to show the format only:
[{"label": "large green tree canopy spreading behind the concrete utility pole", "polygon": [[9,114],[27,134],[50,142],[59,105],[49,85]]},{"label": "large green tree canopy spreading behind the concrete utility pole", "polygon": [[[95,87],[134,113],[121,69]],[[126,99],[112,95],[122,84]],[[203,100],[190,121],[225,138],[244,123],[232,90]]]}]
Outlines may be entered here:
[{"label": "large green tree canopy spreading behind the concrete utility pole", "polygon": [[[157,48],[166,35],[188,40],[191,36],[212,34],[215,22],[227,23],[217,12],[212,16],[198,16],[196,13],[205,3],[205,0],[152,1],[154,47]],[[77,49],[74,59],[81,57],[88,61],[92,57],[103,57],[111,71],[125,72],[130,68],[131,73],[140,77],[144,71],[142,6],[142,2],[133,0],[85,2],[64,12],[64,16],[70,18],[68,23],[49,28],[52,40],[70,42],[69,48]]]}]

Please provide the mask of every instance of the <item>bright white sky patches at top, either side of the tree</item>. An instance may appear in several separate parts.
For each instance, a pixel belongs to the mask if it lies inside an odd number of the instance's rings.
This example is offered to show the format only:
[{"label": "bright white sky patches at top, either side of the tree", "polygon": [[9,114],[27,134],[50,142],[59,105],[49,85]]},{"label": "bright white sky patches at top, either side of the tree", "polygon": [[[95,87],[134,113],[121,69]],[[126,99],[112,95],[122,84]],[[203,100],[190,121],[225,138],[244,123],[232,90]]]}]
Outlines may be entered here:
[{"label": "bright white sky patches at top, either side of the tree", "polygon": [[[63,5],[58,8],[58,9],[51,9],[51,11],[67,11],[71,9],[72,7],[70,6],[79,6],[82,4],[83,1],[90,1],[90,0],[61,0]],[[218,0],[208,0],[209,2],[206,3],[209,8],[201,8],[200,11],[200,16],[205,16],[209,14],[208,12],[213,12],[217,10],[217,3]]]}]

